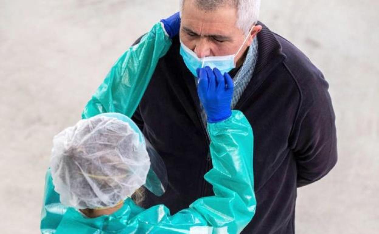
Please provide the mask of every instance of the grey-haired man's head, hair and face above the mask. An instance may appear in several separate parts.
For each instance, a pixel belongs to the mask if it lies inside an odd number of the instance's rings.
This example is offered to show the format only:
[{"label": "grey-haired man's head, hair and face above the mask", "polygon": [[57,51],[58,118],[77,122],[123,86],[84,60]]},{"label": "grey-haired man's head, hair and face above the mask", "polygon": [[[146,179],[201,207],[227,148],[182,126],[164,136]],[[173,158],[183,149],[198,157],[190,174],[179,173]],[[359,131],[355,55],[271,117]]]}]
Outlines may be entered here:
[{"label": "grey-haired man's head, hair and face above the mask", "polygon": [[[180,0],[180,40],[198,58],[236,55],[235,63],[262,26],[260,0]],[[245,40],[246,39],[246,40]]]}]

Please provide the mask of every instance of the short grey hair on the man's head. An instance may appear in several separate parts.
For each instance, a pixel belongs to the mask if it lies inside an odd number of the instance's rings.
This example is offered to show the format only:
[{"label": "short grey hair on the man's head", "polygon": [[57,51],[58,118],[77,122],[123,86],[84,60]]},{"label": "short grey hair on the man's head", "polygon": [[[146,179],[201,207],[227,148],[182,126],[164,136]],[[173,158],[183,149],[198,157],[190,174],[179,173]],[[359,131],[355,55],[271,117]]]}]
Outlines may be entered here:
[{"label": "short grey hair on the man's head", "polygon": [[[195,0],[196,5],[204,11],[213,11],[219,6],[230,5],[238,10],[237,27],[245,35],[251,27],[258,22],[260,0]],[[180,0],[180,13],[182,13],[184,0]]]}]

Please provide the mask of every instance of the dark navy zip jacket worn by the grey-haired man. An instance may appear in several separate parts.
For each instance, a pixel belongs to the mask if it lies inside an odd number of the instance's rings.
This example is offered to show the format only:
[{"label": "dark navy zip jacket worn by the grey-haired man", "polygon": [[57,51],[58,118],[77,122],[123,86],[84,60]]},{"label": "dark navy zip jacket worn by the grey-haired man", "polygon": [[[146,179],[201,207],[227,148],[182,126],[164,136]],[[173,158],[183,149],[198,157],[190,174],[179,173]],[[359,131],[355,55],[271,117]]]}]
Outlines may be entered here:
[{"label": "dark navy zip jacket worn by the grey-haired man", "polygon": [[[260,24],[255,71],[235,107],[254,131],[257,209],[242,233],[291,234],[296,188],[321,179],[337,162],[335,115],[323,74]],[[147,193],[144,206],[165,204],[172,214],[213,195],[203,177],[212,166],[209,141],[194,77],[179,48],[176,36],[133,116],[168,171],[168,191],[162,197]]]}]

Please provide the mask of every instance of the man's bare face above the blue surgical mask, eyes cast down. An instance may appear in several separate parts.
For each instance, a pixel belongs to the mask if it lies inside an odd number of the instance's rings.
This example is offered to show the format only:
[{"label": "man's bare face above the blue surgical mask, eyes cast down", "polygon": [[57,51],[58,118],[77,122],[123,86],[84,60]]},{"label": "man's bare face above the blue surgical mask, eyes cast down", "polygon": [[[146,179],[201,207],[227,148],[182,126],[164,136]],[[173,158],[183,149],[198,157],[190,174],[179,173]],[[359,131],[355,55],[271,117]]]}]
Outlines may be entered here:
[{"label": "man's bare face above the blue surgical mask, eyes cast down", "polygon": [[[237,9],[233,6],[225,5],[213,11],[203,11],[196,6],[194,0],[186,0],[182,9],[180,39],[199,58],[233,55],[245,39],[236,20]],[[244,44],[235,62],[242,57],[251,41],[252,38]]]}]

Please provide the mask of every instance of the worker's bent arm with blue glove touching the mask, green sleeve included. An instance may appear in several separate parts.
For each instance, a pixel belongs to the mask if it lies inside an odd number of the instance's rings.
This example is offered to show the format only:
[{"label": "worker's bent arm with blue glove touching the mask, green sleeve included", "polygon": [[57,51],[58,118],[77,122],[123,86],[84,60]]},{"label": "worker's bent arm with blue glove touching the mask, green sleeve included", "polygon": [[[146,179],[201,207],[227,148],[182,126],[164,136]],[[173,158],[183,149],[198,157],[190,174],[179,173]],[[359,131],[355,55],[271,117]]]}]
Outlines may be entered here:
[{"label": "worker's bent arm with blue glove touching the mask, green sleeve included", "polygon": [[180,227],[189,233],[240,233],[251,221],[256,206],[252,129],[243,113],[230,110],[234,87],[229,74],[205,67],[198,69],[197,75],[213,164],[204,177],[215,196],[197,199],[189,209],[175,215],[166,214],[157,226],[159,230]]}]

